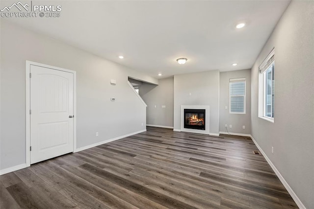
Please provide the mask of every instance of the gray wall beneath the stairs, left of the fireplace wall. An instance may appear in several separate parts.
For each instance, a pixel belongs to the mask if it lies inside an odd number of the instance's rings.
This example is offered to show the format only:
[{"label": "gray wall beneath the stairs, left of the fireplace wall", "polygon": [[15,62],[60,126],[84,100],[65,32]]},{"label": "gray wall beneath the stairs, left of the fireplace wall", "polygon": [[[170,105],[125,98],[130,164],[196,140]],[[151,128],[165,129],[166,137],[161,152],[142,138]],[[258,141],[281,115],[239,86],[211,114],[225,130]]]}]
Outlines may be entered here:
[{"label": "gray wall beneath the stairs, left of the fireplace wall", "polygon": [[146,123],[173,127],[173,78],[159,79],[158,82],[159,85],[143,83],[139,88],[139,95],[148,105]]}]

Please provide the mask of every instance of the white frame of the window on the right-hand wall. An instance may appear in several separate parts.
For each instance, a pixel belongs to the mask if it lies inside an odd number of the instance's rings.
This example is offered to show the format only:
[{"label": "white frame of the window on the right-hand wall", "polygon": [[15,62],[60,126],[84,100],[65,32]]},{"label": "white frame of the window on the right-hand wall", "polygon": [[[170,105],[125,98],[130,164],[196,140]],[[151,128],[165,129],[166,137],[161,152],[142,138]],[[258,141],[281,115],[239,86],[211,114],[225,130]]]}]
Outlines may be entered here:
[{"label": "white frame of the window on the right-hand wall", "polygon": [[[266,121],[272,122],[274,123],[274,112],[272,108],[272,117],[269,117],[266,115],[266,80],[267,80],[267,76],[266,76],[266,72],[267,70],[272,67],[272,93],[275,97],[275,79],[274,79],[274,69],[275,69],[275,49],[273,49],[268,56],[265,58],[265,60],[262,62],[262,64],[259,67],[259,105],[258,105],[258,117],[262,118]],[[273,97],[271,97],[271,105],[272,107],[275,106],[275,103],[273,103],[274,99]]]}]

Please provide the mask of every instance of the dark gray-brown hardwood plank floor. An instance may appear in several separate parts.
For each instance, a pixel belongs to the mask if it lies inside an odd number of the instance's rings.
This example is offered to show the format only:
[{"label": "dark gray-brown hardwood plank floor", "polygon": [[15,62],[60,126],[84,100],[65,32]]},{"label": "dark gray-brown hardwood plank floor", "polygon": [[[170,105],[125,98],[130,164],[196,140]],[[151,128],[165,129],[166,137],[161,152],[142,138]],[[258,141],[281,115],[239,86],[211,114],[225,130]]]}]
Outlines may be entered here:
[{"label": "dark gray-brown hardwood plank floor", "polygon": [[147,131],[0,176],[0,208],[297,208],[249,137]]}]

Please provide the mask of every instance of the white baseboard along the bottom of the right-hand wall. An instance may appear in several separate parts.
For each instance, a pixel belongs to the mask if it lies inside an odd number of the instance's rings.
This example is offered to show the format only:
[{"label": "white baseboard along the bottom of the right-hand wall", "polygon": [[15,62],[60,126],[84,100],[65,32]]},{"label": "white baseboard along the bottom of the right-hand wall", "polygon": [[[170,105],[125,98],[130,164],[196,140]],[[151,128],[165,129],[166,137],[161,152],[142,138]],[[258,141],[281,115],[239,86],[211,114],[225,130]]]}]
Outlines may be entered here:
[{"label": "white baseboard along the bottom of the right-hand wall", "polygon": [[303,203],[301,202],[301,200],[298,198],[298,196],[296,196],[296,194],[294,193],[294,191],[292,190],[292,188],[289,186],[289,184],[286,182],[286,180],[284,179],[284,177],[281,175],[281,173],[277,170],[276,166],[270,161],[270,159],[266,156],[266,154],[264,153],[264,151],[262,150],[262,148],[260,147],[260,145],[255,141],[254,137],[252,135],[250,135],[250,137],[252,138],[254,144],[257,146],[257,148],[260,150],[260,152],[262,153],[262,155],[265,157],[266,161],[268,162],[268,164],[270,165],[270,167],[273,169],[273,171],[275,172],[275,174],[277,175],[277,177],[279,178],[279,180],[281,181],[281,183],[284,184],[285,188],[287,189],[288,193],[291,195],[292,199],[294,200],[294,202],[296,203],[296,205],[300,208],[300,209],[306,209],[305,206],[303,205]]}]

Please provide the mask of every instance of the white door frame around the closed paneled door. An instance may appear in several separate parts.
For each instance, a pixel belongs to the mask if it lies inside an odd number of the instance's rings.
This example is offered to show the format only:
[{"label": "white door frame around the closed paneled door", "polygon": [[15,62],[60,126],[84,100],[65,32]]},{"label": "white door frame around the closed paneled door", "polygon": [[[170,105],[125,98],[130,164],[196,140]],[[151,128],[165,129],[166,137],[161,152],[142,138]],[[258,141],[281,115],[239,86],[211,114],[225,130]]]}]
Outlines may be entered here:
[{"label": "white door frame around the closed paneled door", "polygon": [[44,68],[50,68],[52,70],[59,70],[59,71],[64,71],[68,73],[73,73],[73,113],[74,113],[74,118],[73,118],[73,152],[76,151],[77,149],[77,72],[72,71],[72,70],[67,70],[59,67],[54,67],[51,65],[46,65],[42,63],[37,63],[37,62],[32,62],[26,60],[26,97],[25,97],[25,123],[26,123],[26,167],[30,166],[30,66],[35,65],[39,67],[44,67]]}]

